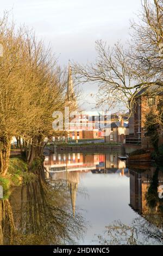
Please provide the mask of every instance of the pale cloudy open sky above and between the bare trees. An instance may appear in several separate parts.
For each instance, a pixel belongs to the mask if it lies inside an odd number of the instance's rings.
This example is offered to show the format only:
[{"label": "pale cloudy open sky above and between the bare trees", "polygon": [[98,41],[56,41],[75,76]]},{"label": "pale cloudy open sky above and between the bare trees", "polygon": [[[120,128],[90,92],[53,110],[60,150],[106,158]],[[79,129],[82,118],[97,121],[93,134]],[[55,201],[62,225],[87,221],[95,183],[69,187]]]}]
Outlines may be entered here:
[{"label": "pale cloudy open sky above and between the bare trees", "polygon": [[[86,63],[96,58],[95,41],[108,45],[129,39],[130,19],[136,17],[141,0],[7,0],[0,15],[11,10],[17,25],[34,28],[39,39],[52,46],[60,65],[71,61]],[[83,106],[92,109],[95,84],[85,84]],[[89,103],[88,103],[89,102]],[[95,102],[94,102],[95,103]]]}]

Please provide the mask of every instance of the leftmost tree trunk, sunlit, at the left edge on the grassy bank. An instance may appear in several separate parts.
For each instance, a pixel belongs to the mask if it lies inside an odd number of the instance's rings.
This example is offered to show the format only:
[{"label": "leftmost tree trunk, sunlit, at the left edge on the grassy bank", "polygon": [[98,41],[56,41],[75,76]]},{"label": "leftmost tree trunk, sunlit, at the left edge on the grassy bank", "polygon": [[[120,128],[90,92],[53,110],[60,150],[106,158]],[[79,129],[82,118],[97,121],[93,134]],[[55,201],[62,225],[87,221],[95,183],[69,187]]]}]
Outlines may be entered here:
[{"label": "leftmost tree trunk, sunlit, at the left edge on the grassy bank", "polygon": [[11,138],[0,137],[0,174],[5,176],[9,167]]}]

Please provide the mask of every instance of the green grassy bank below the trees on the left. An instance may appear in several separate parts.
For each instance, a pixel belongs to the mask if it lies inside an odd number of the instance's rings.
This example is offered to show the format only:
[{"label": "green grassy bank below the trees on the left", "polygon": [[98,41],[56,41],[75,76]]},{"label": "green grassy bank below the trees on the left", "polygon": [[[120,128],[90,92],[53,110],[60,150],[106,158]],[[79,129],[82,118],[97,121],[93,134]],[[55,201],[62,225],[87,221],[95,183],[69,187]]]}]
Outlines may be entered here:
[{"label": "green grassy bank below the trees on the left", "polygon": [[3,199],[9,197],[12,186],[21,186],[35,180],[37,176],[28,172],[28,164],[21,158],[12,157],[5,177],[0,175],[0,185],[3,187]]}]

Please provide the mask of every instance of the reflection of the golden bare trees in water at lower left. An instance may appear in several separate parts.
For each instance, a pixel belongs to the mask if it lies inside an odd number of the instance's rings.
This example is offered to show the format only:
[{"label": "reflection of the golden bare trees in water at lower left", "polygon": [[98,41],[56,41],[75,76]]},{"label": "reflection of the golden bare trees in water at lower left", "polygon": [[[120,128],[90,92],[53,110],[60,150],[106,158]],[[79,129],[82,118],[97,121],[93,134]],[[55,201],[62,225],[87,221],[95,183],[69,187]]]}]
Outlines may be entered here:
[{"label": "reflection of the golden bare trees in water at lower left", "polygon": [[[14,193],[12,193],[14,196]],[[0,242],[7,245],[73,243],[83,233],[82,217],[71,214],[64,184],[30,182],[19,190],[16,204],[0,201]],[[19,197],[17,197],[19,196]]]}]

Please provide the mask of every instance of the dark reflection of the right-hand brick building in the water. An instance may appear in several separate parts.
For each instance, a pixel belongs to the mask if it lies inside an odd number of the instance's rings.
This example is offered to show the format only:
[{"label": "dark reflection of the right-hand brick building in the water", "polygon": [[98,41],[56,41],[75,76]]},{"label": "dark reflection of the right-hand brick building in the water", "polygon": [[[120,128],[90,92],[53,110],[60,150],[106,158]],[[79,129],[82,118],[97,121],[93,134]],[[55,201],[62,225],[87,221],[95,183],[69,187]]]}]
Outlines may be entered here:
[{"label": "dark reflection of the right-hand brick building in the water", "polygon": [[[154,175],[157,170],[155,167],[148,167],[148,169],[136,170],[129,169],[130,176],[130,206],[138,214],[145,217],[149,222],[162,226],[161,200],[159,200],[159,186],[163,185],[163,173],[158,171],[156,180]],[[158,182],[157,182],[158,181]],[[152,182],[156,184],[156,193],[152,188],[152,193],[149,194],[149,187]],[[152,206],[150,205],[150,200]],[[159,217],[159,218],[158,218]]]}]

